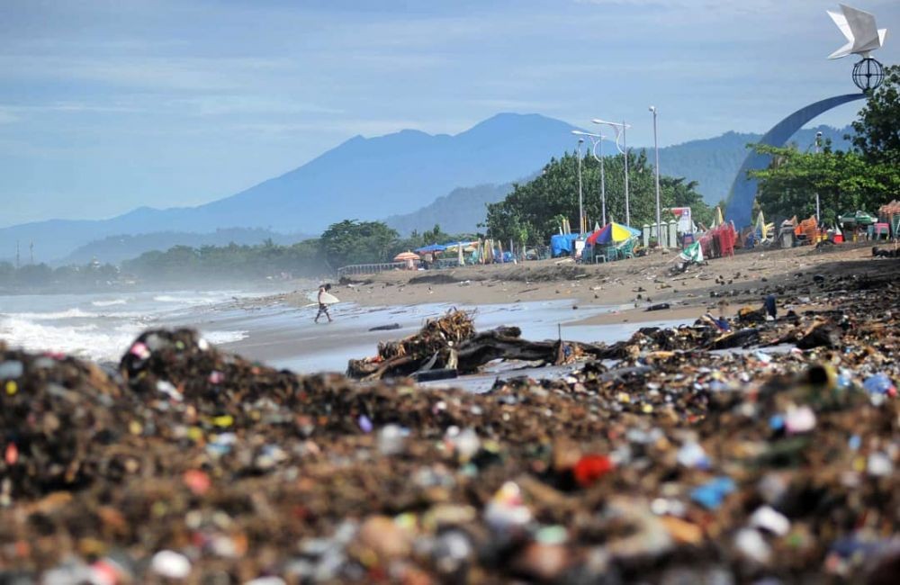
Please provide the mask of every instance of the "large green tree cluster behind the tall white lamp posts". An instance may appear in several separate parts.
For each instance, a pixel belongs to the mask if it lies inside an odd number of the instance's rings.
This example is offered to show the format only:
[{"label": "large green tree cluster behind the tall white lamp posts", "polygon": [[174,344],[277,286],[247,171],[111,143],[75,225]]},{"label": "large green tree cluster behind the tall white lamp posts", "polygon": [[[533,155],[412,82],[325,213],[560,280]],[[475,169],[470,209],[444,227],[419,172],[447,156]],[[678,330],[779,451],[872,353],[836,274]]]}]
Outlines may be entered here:
[{"label": "large green tree cluster behind the tall white lamp posts", "polygon": [[[602,219],[600,199],[600,165],[594,157],[587,155],[581,162],[582,194],[584,213],[589,229]],[[625,157],[606,157],[608,220],[625,222]],[[656,187],[653,165],[641,150],[631,152],[628,158],[629,202],[631,223],[640,227],[644,223],[656,221]],[[671,220],[667,208],[690,207],[695,221],[708,222],[712,211],[699,193],[697,184],[683,178],[662,175],[660,177],[660,199],[663,220]],[[506,241],[512,238],[527,244],[546,243],[558,232],[559,219],[568,218],[572,229],[578,227],[578,157],[566,154],[561,159],[552,159],[544,173],[526,184],[515,184],[512,193],[498,203],[488,205],[485,225],[491,238]]]}]

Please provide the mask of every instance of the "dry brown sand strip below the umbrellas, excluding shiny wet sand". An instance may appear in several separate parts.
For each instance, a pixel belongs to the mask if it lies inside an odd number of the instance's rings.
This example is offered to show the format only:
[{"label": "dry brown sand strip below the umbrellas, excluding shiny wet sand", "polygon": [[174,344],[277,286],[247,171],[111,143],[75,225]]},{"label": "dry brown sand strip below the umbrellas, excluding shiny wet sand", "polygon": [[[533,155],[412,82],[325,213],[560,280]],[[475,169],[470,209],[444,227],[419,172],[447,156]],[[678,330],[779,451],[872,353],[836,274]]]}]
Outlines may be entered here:
[{"label": "dry brown sand strip below the umbrellas, excluding shiny wet sand", "polygon": [[[706,312],[732,313],[757,305],[786,286],[808,293],[813,276],[859,274],[878,270],[866,244],[790,249],[760,248],[734,257],[716,258],[671,275],[676,253],[656,254],[598,265],[571,260],[543,260],[518,265],[465,266],[448,270],[397,270],[356,276],[335,284],[333,292],[345,302],[375,307],[423,303],[470,305],[564,300],[573,311],[606,308],[603,314],[581,321],[601,325],[628,321],[696,319]],[[302,307],[308,293],[281,297]],[[655,304],[669,309],[646,311]],[[335,309],[340,313],[340,305]]]}]

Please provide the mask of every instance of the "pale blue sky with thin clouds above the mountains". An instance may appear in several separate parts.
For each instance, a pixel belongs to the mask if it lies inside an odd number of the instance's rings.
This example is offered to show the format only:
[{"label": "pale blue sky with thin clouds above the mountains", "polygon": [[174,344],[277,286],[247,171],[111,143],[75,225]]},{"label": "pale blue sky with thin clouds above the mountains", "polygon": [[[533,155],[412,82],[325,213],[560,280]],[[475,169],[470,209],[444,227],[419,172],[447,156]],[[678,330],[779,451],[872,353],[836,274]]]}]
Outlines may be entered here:
[{"label": "pale blue sky with thin clouds above the mountains", "polygon": [[[900,2],[860,0],[900,34]],[[764,132],[851,93],[822,0],[3,0],[0,227],[196,205],[358,134],[498,112],[629,144]],[[890,33],[875,55],[900,62]],[[843,126],[859,103],[815,120]],[[574,146],[574,145],[573,145]],[[515,145],[510,145],[515,148]]]}]

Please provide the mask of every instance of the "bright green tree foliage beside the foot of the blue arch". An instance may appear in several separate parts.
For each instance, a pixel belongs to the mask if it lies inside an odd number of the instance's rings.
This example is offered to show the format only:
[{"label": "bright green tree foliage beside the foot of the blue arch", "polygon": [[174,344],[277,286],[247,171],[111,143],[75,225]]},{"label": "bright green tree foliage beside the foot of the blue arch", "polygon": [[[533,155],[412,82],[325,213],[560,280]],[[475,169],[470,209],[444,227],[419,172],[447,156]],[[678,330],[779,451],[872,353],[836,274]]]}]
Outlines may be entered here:
[{"label": "bright green tree foliage beside the foot of the blue arch", "polygon": [[755,148],[772,157],[769,168],[750,172],[759,181],[757,201],[770,220],[815,215],[815,193],[819,193],[826,223],[852,211],[875,211],[900,193],[900,167],[869,163],[858,153]]}]

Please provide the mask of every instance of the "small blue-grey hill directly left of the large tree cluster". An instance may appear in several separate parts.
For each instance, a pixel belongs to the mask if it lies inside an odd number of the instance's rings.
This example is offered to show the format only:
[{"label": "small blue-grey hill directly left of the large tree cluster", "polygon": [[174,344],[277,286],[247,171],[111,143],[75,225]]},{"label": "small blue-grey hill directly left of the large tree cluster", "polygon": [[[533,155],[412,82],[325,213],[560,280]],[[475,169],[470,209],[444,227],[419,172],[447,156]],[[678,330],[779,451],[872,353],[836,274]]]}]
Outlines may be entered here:
[{"label": "small blue-grey hill directly left of the large tree cluster", "polygon": [[487,216],[487,203],[502,201],[512,191],[512,186],[512,183],[505,183],[460,187],[418,211],[392,215],[384,222],[402,236],[413,230],[431,229],[436,224],[450,234],[476,233],[483,230],[478,224]]}]

